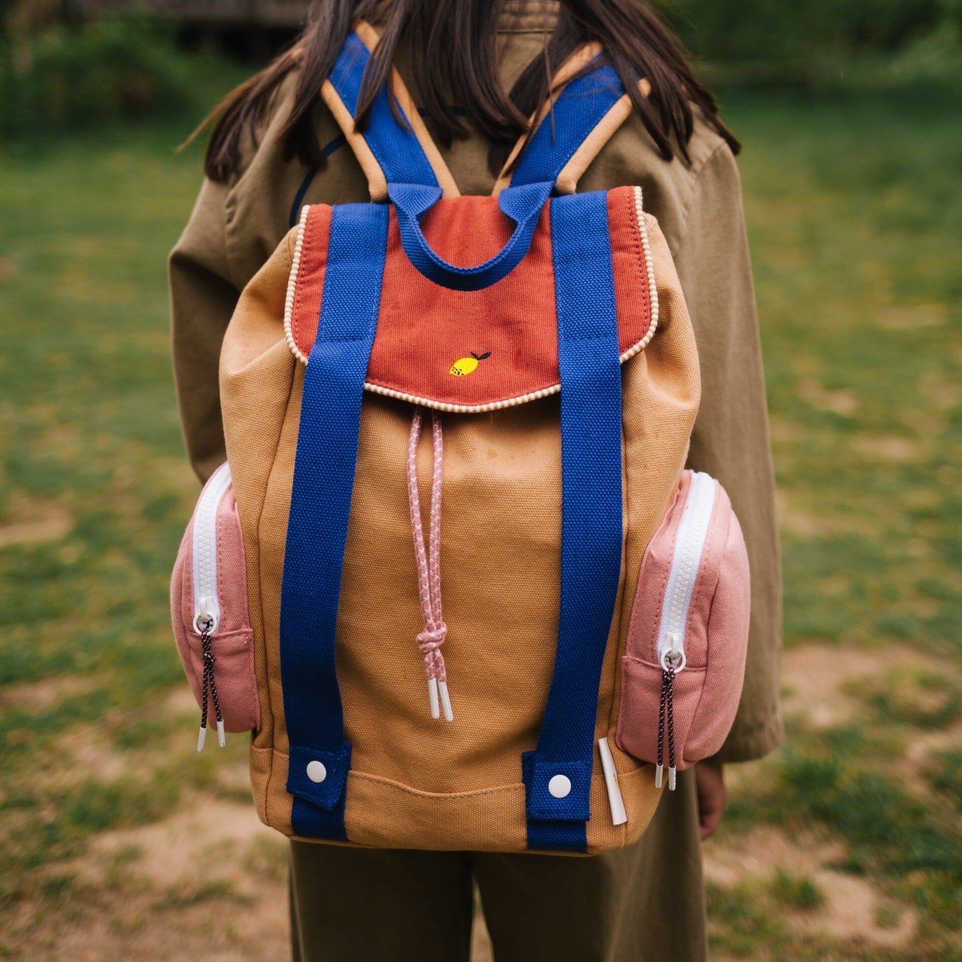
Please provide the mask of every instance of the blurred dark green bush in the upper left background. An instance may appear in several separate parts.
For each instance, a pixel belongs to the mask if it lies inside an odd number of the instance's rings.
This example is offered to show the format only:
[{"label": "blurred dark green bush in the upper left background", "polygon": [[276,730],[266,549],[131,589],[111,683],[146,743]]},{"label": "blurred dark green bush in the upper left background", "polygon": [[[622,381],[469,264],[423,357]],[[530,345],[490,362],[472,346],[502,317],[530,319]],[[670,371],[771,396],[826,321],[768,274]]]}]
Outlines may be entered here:
[{"label": "blurred dark green bush in the upper left background", "polygon": [[168,23],[143,13],[0,38],[0,136],[162,114],[199,118],[224,76],[216,55],[184,51]]}]

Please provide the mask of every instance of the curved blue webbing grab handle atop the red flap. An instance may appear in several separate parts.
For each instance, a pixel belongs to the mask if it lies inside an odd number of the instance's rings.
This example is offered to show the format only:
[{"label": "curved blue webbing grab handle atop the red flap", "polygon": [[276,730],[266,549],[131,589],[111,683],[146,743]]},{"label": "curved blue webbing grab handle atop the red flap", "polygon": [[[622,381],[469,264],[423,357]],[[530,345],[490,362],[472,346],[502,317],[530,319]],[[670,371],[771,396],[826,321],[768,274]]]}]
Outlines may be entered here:
[{"label": "curved blue webbing grab handle atop the red flap", "polygon": [[484,264],[458,267],[432,249],[420,228],[420,218],[440,199],[440,188],[418,184],[389,184],[388,196],[397,211],[401,244],[411,263],[428,280],[454,291],[480,291],[506,277],[527,254],[535,226],[553,184],[524,184],[497,195],[501,213],[515,221],[515,231],[501,250]]}]

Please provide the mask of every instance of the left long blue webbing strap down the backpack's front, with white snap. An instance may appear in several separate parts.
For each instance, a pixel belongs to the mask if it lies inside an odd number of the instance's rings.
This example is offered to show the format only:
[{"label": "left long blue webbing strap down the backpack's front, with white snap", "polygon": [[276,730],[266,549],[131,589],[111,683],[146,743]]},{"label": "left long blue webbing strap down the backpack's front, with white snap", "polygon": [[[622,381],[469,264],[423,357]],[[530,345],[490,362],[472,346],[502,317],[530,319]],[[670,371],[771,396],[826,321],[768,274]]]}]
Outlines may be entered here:
[{"label": "left long blue webbing strap down the backpack's front, with white snap", "polygon": [[346,838],[351,747],[344,741],[335,638],[387,242],[387,206],[334,208],[317,339],[304,374],[281,584],[281,683],[291,824],[294,834],[309,838]]}]

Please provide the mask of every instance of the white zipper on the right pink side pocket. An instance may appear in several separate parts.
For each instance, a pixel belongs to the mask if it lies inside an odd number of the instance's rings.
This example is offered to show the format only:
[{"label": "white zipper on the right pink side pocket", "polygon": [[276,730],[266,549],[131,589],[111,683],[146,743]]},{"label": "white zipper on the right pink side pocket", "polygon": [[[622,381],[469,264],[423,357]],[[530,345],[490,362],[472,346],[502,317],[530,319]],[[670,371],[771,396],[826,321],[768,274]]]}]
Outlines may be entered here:
[{"label": "white zipper on the right pink side pocket", "polygon": [[692,604],[708,524],[715,507],[717,487],[710,474],[696,471],[692,475],[671,556],[671,571],[658,629],[658,663],[663,668],[666,664],[671,664],[675,671],[685,667],[685,623]]}]

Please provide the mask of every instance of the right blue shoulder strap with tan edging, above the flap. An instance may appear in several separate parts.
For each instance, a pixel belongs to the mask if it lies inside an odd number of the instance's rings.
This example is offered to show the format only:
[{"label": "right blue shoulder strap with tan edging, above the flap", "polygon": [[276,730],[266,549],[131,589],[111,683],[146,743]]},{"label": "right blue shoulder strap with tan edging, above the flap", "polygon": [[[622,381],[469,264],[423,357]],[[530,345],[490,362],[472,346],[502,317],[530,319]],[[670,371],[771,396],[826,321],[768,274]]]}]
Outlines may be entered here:
[{"label": "right blue shoulder strap with tan edging, above the flap", "polygon": [[610,64],[572,80],[546,114],[521,154],[511,175],[511,186],[553,184],[574,152],[601,118],[624,96],[624,88]]}]

